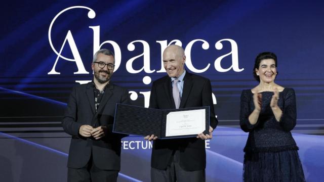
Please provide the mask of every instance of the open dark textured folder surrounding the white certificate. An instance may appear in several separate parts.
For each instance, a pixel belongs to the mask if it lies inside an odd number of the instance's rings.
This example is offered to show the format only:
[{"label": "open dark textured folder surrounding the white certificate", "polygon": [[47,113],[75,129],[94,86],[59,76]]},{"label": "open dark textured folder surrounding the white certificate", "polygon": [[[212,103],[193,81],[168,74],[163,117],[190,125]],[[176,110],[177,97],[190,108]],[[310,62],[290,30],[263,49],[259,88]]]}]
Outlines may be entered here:
[{"label": "open dark textured folder surrounding the white certificate", "polygon": [[159,139],[192,137],[191,135],[167,136],[166,137],[166,120],[170,112],[188,111],[188,110],[206,110],[206,130],[209,130],[209,106],[181,109],[152,109],[126,104],[116,104],[113,132],[147,136],[156,135]]}]

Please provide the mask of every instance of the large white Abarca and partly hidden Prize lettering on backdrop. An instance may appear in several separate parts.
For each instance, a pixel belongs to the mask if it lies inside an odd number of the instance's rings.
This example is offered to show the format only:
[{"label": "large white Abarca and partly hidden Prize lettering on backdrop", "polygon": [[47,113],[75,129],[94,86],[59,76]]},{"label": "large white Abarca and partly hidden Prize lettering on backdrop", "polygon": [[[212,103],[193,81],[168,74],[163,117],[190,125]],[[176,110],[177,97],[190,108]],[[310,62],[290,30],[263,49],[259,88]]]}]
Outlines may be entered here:
[{"label": "large white Abarca and partly hidden Prize lettering on backdrop", "polygon": [[[75,62],[75,65],[76,65],[78,71],[74,72],[73,74],[89,74],[89,72],[84,67],[83,60],[80,57],[80,54],[78,52],[76,43],[74,41],[72,32],[70,30],[68,30],[68,32],[67,32],[67,34],[65,36],[65,39],[64,39],[64,41],[62,43],[62,46],[59,49],[60,50],[59,52],[57,51],[57,49],[55,49],[55,47],[54,47],[54,45],[52,43],[51,31],[52,31],[53,24],[55,23],[56,19],[61,14],[63,14],[64,12],[67,12],[67,11],[69,11],[71,9],[76,9],[76,8],[89,10],[88,18],[90,18],[90,19],[93,19],[93,18],[96,17],[95,11],[92,10],[91,8],[84,7],[84,6],[73,6],[73,7],[69,7],[69,8],[66,8],[66,9],[62,10],[61,12],[59,12],[53,18],[53,20],[52,20],[52,22],[50,24],[50,27],[49,27],[48,38],[49,38],[51,48],[54,51],[54,53],[57,55],[57,58],[56,58],[56,60],[55,60],[55,62],[53,64],[52,70],[50,72],[48,72],[48,74],[60,74],[60,72],[57,72],[55,70],[59,58],[61,58],[60,60],[66,60],[66,61]],[[121,50],[120,50],[120,47],[119,47],[118,43],[115,42],[115,41],[112,41],[112,40],[106,40],[106,41],[103,41],[102,43],[100,43],[100,26],[89,26],[89,28],[93,30],[93,54],[95,54],[99,49],[101,49],[101,47],[104,44],[106,44],[106,43],[111,44],[112,48],[113,48],[113,51],[114,51],[114,54],[115,54],[115,69],[114,69],[114,72],[117,71],[120,64],[121,64]],[[235,71],[235,72],[243,71],[244,68],[239,68],[239,65],[238,65],[238,47],[237,47],[237,43],[235,42],[235,40],[229,39],[229,38],[218,40],[215,43],[216,50],[222,50],[224,42],[229,42],[230,43],[231,51],[229,53],[225,54],[225,55],[222,55],[222,56],[216,58],[216,60],[214,62],[215,70],[218,71],[218,72],[227,72],[227,71],[229,71],[231,69],[233,71]],[[144,71],[147,74],[150,74],[150,73],[153,73],[153,72],[156,72],[156,73],[166,72],[164,67],[163,67],[163,60],[162,60],[163,59],[162,55],[163,55],[164,49],[167,48],[168,45],[170,45],[172,43],[183,46],[182,42],[180,40],[178,40],[178,39],[174,39],[174,40],[171,40],[169,42],[168,42],[168,40],[156,40],[156,43],[160,44],[160,65],[161,65],[160,70],[157,70],[157,71],[156,70],[151,70],[151,68],[150,68],[150,45],[149,45],[149,43],[147,41],[145,41],[145,40],[134,40],[134,41],[132,41],[132,42],[130,42],[128,44],[128,46],[127,46],[128,51],[134,51],[137,47],[139,49],[143,48],[143,53],[142,54],[137,55],[137,56],[129,59],[126,62],[126,69],[130,74],[136,74],[136,73],[140,73],[142,71]],[[209,42],[204,40],[204,39],[191,40],[184,47],[185,55],[186,55],[186,63],[185,64],[186,64],[187,68],[191,72],[204,73],[208,69],[210,69],[211,64],[208,63],[205,66],[205,68],[203,68],[203,69],[197,69],[197,68],[195,68],[193,66],[194,65],[193,64],[194,60],[191,59],[191,48],[192,48],[193,44],[195,44],[195,43],[201,43],[201,48],[204,49],[204,50],[210,49]],[[62,56],[62,54],[61,54],[62,50],[63,50],[63,48],[66,48],[66,47],[68,47],[71,50],[73,58],[66,58],[66,57]],[[225,57],[229,57],[229,56],[231,57],[231,59],[223,60]],[[143,66],[141,67],[141,69],[138,69],[138,70],[134,69],[133,64],[135,62],[138,64],[139,61],[141,61],[141,60],[143,61],[142,62]],[[228,61],[228,60],[231,60],[231,66],[229,66],[228,68],[223,68],[221,66],[221,62],[222,61]],[[78,82],[80,84],[84,84],[84,83],[87,83],[89,81],[90,80],[76,80],[76,82]],[[145,76],[143,78],[143,83],[144,84],[150,84],[151,83],[151,78],[149,76]],[[134,100],[134,101],[137,100],[138,94],[136,92],[130,91],[130,94],[131,94],[131,99],[132,100]],[[142,94],[144,96],[144,105],[145,105],[145,107],[148,107],[148,104],[149,104],[148,101],[149,101],[149,97],[150,97],[150,92],[139,92],[139,94]],[[212,97],[213,97],[213,103],[217,104],[216,97],[215,97],[214,94],[213,94]]]}]

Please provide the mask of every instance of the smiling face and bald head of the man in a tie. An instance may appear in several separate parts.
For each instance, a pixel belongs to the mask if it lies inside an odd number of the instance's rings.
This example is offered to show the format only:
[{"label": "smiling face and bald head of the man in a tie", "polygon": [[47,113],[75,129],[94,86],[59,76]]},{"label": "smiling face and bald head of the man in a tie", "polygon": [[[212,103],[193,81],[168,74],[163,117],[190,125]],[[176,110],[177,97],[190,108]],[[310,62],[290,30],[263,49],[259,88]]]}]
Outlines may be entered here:
[{"label": "smiling face and bald head of the man in a tie", "polygon": [[181,76],[185,61],[184,51],[178,45],[170,45],[163,53],[163,65],[169,77]]}]

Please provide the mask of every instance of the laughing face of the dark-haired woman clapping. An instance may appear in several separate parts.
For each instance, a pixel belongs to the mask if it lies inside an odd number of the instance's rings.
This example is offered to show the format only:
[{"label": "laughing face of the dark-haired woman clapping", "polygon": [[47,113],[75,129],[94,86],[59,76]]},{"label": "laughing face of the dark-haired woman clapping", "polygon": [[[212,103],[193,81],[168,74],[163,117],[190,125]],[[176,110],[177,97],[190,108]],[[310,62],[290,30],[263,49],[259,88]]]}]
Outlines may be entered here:
[{"label": "laughing face of the dark-haired woman clapping", "polygon": [[259,69],[255,69],[256,74],[260,77],[260,82],[273,82],[277,75],[275,61],[273,59],[264,59],[260,62]]}]

